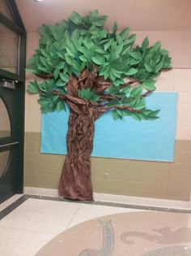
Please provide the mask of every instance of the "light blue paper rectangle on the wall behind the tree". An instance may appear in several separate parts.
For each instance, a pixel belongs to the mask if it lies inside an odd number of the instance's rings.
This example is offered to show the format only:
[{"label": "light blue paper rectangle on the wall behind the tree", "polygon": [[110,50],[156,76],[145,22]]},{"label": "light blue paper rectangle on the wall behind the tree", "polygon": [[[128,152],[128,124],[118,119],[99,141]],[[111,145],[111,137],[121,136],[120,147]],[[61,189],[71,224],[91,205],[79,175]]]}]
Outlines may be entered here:
[{"label": "light blue paper rectangle on the wall behind the tree", "polygon": [[[173,162],[177,93],[151,93],[146,108],[160,110],[155,121],[112,119],[111,111],[96,120],[91,156]],[[41,153],[66,154],[69,110],[42,115]]]}]

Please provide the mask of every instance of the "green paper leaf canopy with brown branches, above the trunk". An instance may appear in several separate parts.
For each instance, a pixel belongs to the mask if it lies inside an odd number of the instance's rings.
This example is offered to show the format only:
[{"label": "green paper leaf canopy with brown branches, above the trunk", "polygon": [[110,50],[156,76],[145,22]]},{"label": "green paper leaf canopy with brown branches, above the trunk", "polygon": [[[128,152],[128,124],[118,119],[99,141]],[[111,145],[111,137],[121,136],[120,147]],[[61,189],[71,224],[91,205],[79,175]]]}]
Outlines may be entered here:
[{"label": "green paper leaf canopy with brown branches, above the trunk", "polygon": [[155,90],[160,72],[171,67],[168,51],[159,41],[149,46],[147,37],[134,46],[136,35],[129,36],[129,28],[118,32],[116,23],[112,32],[104,28],[107,18],[98,11],[85,17],[73,12],[61,24],[41,26],[39,49],[27,71],[44,78],[28,85],[31,93],[40,94],[42,113],[66,110],[72,102],[100,113],[112,110],[113,119],[157,118],[159,111],[146,109],[145,97]]}]

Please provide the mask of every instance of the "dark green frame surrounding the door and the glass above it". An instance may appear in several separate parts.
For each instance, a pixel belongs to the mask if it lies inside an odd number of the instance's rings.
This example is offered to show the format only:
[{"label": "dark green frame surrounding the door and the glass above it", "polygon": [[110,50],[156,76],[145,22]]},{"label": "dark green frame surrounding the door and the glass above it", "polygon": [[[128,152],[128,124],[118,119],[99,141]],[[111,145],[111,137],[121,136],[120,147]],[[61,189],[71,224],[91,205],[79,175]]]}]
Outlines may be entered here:
[{"label": "dark green frame surrounding the door and the glass above it", "polygon": [[[19,111],[18,119],[18,131],[19,135],[17,141],[19,141],[19,169],[18,169],[18,183],[15,189],[15,193],[23,193],[23,160],[24,160],[24,102],[25,102],[25,64],[26,64],[26,31],[23,26],[23,22],[19,15],[18,8],[16,7],[15,0],[6,0],[6,4],[9,7],[9,11],[13,17],[13,20],[9,20],[5,15],[0,12],[0,23],[10,28],[19,36],[19,49],[18,49],[18,70],[17,74],[8,72],[0,68],[0,80],[17,80],[19,81],[17,102],[16,106]],[[9,144],[14,141],[13,137],[5,137],[0,139],[3,144]],[[5,147],[6,148],[6,147]],[[10,146],[8,146],[8,149]],[[2,150],[1,150],[2,151]]]}]

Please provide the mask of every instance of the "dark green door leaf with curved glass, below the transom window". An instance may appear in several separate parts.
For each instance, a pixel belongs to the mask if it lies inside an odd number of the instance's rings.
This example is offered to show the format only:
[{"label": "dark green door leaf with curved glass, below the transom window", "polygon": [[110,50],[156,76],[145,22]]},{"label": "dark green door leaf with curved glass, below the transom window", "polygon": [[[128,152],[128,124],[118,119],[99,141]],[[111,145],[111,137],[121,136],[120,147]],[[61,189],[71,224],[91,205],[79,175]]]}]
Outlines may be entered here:
[{"label": "dark green door leaf with curved glass, below the transom window", "polygon": [[[22,155],[19,155],[18,86],[15,89],[3,87],[6,82],[0,81],[0,202],[21,192],[23,183],[20,170]],[[14,83],[11,82],[11,85]]]}]

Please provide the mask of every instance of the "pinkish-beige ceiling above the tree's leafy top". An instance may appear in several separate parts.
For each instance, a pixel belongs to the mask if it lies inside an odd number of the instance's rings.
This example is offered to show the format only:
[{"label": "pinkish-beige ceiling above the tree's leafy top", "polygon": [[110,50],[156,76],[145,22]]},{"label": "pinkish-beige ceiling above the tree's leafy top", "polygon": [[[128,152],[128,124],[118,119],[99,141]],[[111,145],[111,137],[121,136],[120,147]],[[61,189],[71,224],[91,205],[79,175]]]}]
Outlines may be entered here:
[{"label": "pinkish-beige ceiling above the tree's leafy top", "polygon": [[67,20],[72,11],[87,15],[99,10],[108,15],[107,27],[114,21],[119,30],[191,31],[191,0],[15,0],[28,32],[36,32],[41,24]]}]

